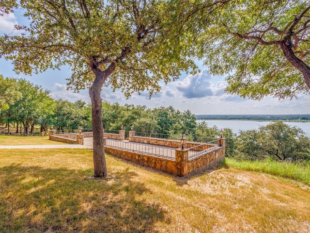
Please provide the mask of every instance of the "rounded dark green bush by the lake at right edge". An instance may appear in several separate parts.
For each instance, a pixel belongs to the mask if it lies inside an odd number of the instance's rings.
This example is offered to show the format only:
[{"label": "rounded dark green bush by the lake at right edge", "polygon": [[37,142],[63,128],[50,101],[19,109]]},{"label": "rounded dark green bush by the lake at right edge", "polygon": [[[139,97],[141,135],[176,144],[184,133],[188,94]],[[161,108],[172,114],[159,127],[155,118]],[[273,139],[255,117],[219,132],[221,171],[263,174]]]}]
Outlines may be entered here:
[{"label": "rounded dark green bush by the lake at right edge", "polygon": [[236,158],[248,160],[310,160],[310,138],[301,129],[274,121],[259,130],[241,131],[236,139]]}]

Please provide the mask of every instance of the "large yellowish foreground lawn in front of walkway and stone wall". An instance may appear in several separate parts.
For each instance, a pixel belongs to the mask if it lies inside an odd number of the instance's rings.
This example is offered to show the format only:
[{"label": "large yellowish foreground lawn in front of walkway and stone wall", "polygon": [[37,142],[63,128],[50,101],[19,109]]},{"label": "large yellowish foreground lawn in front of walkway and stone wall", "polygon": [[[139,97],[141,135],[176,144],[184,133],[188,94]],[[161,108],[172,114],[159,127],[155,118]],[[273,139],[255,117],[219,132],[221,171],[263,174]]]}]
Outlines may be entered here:
[{"label": "large yellowish foreground lawn in front of walkway and stone wall", "polygon": [[179,178],[92,150],[0,150],[1,233],[309,233],[310,188],[220,167]]}]

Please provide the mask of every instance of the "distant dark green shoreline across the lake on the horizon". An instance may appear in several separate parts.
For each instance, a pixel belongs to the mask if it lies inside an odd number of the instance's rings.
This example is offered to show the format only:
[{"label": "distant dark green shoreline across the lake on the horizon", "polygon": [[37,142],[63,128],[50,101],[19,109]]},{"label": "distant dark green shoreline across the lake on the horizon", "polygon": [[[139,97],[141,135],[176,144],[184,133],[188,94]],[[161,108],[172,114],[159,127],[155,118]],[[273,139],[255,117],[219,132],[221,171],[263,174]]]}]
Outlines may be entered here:
[{"label": "distant dark green shoreline across the lake on the horizon", "polygon": [[197,120],[254,120],[254,121],[292,121],[309,122],[310,114],[288,115],[195,115]]}]

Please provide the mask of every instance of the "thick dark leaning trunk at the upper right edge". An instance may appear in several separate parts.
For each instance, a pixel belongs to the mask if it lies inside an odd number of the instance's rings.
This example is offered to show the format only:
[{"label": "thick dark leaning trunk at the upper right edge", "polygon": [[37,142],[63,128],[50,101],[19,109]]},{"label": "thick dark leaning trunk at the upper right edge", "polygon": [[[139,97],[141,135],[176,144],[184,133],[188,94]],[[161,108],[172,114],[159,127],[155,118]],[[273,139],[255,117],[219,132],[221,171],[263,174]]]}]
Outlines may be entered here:
[{"label": "thick dark leaning trunk at the upper right edge", "polygon": [[280,44],[280,47],[285,58],[303,74],[305,83],[310,89],[310,67],[308,67],[302,60],[295,56],[294,51],[292,50],[291,38],[284,40]]}]

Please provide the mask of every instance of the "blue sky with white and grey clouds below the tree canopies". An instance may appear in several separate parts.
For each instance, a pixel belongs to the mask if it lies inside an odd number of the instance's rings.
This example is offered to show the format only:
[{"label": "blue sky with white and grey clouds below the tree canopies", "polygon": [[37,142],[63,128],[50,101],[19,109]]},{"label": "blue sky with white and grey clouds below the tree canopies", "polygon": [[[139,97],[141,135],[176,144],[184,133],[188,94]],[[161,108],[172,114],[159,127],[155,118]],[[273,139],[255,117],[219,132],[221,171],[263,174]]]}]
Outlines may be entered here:
[{"label": "blue sky with white and grey clouds below the tree canopies", "polygon": [[[22,13],[16,12],[0,17],[0,34],[14,34],[14,25],[25,25],[27,21]],[[148,108],[169,107],[180,111],[189,110],[195,115],[237,115],[237,114],[310,114],[310,95],[300,94],[298,99],[278,100],[265,97],[263,100],[248,100],[224,92],[225,76],[212,76],[202,61],[196,61],[201,72],[195,75],[182,74],[177,81],[161,84],[162,89],[149,99],[149,93],[133,94],[126,100],[120,90],[112,92],[111,88],[102,89],[102,99],[109,103],[121,105],[146,105]],[[51,91],[54,99],[84,100],[90,102],[88,90],[79,93],[66,90],[66,78],[71,76],[70,67],[60,70],[47,70],[44,73],[26,76],[13,71],[11,61],[0,58],[0,74],[9,78],[24,78],[31,83],[41,85]]]}]

